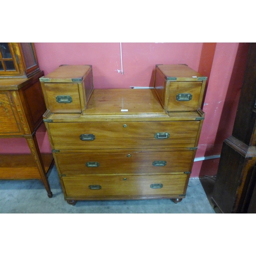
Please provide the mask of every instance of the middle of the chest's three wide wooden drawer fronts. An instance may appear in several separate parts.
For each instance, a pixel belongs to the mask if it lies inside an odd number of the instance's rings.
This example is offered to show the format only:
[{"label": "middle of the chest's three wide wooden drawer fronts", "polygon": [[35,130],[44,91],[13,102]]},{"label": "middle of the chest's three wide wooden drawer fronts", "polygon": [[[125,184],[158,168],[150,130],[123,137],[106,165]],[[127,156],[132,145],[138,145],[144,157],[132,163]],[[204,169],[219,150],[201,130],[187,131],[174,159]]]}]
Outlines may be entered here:
[{"label": "middle of the chest's three wide wooden drawer fronts", "polygon": [[166,174],[190,170],[194,151],[60,153],[59,171],[65,175]]}]

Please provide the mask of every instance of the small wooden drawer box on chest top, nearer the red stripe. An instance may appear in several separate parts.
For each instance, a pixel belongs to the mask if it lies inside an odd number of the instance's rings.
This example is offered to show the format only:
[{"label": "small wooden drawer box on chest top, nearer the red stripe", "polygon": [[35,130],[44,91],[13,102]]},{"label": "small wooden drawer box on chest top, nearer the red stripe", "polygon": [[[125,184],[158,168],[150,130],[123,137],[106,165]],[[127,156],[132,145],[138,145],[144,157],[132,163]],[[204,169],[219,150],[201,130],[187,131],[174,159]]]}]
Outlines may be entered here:
[{"label": "small wooden drawer box on chest top, nearer the red stripe", "polygon": [[196,111],[206,80],[187,65],[156,65],[154,87],[165,111]]}]

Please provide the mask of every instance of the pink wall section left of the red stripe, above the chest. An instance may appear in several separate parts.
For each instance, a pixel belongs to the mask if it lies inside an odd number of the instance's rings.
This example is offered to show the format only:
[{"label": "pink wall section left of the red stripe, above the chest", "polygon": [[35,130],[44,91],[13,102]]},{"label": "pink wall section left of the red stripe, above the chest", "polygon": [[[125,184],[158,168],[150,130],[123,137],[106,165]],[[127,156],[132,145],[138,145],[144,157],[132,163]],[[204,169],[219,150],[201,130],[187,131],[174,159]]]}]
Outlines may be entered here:
[{"label": "pink wall section left of the red stripe, above the chest", "polygon": [[153,86],[156,64],[186,63],[198,69],[202,43],[35,43],[39,67],[48,74],[59,65],[93,66],[95,89]]}]

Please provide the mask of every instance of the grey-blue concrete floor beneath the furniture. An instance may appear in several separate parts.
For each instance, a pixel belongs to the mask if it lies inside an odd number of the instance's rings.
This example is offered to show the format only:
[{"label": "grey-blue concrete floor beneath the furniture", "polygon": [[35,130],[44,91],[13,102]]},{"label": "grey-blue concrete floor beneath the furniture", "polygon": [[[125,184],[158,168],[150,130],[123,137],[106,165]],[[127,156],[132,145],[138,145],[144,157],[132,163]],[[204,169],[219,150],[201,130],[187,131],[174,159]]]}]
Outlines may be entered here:
[{"label": "grey-blue concrete floor beneath the furniture", "polygon": [[175,204],[169,199],[78,201],[69,205],[63,197],[55,165],[49,183],[53,193],[48,198],[39,180],[0,180],[1,214],[215,214],[210,202],[214,179],[190,179],[186,198]]}]

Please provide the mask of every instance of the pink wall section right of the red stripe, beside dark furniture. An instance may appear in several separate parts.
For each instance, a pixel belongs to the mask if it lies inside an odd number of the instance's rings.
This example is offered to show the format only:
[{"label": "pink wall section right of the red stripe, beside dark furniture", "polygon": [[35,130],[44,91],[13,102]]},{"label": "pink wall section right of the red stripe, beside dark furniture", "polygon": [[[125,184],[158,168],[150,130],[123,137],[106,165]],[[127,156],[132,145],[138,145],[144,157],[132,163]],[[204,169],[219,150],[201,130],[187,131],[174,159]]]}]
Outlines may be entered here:
[{"label": "pink wall section right of the red stripe, beside dark furniture", "polygon": [[[232,133],[249,44],[216,45],[203,111],[205,120],[196,157],[219,155],[223,140]],[[192,177],[215,175],[219,159],[195,162]]]}]

